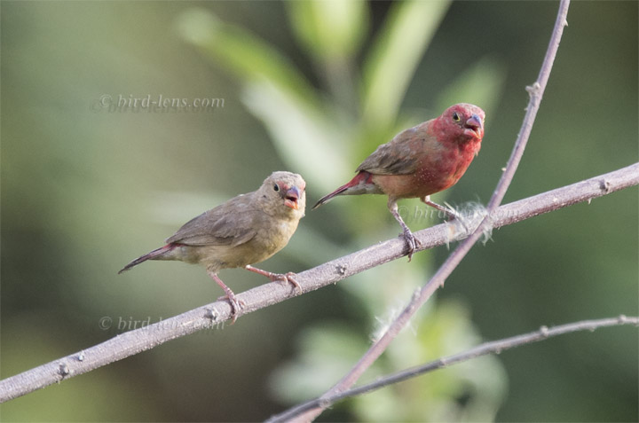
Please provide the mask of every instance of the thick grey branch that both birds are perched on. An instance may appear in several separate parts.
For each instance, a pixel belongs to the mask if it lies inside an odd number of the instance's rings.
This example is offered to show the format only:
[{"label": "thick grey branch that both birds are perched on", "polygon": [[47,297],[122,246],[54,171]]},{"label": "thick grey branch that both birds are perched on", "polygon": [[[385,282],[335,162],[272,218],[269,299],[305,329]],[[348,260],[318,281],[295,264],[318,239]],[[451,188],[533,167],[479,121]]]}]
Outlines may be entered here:
[{"label": "thick grey branch that both birds are perched on", "polygon": [[[499,228],[635,185],[639,185],[639,163],[501,206],[495,210],[491,221],[493,228]],[[451,240],[450,229],[449,224],[442,223],[414,232],[414,236],[420,241],[420,249],[431,248],[449,242]],[[405,250],[404,239],[390,239],[298,273],[296,281],[302,287],[302,292],[308,293],[323,286],[332,285],[353,274],[403,257],[406,255]],[[248,313],[286,301],[298,294],[297,290],[292,289],[288,284],[272,282],[256,286],[236,296],[238,300],[246,304],[243,312]],[[89,349],[40,365],[11,378],[0,380],[0,403],[79,374],[91,372],[103,365],[122,360],[122,358],[133,356],[147,349],[153,349],[166,341],[203,329],[211,329],[230,317],[231,308],[228,302],[213,302],[176,317],[162,320],[154,325],[119,334]],[[99,322],[96,322],[96,325],[99,326]]]}]

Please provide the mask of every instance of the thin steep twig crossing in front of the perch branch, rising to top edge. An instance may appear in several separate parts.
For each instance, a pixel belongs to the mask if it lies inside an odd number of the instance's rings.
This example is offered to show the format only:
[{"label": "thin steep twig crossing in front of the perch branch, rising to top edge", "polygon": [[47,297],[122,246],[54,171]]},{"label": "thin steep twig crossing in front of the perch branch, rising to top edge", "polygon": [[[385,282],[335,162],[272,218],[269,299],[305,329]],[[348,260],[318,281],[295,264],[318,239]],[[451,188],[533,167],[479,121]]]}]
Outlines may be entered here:
[{"label": "thin steep twig crossing in front of the perch branch, rising to top edge", "polygon": [[[550,36],[550,43],[548,43],[548,50],[546,51],[546,56],[541,64],[540,74],[537,81],[534,82],[531,87],[526,88],[530,95],[530,101],[526,107],[526,114],[522,123],[522,128],[519,130],[519,135],[513,152],[510,155],[506,170],[501,175],[501,179],[493,192],[493,196],[488,202],[488,216],[479,224],[475,232],[468,239],[465,239],[461,245],[448,256],[446,262],[444,262],[435,275],[430,278],[430,281],[413,296],[411,301],[408,302],[406,309],[404,309],[395,321],[390,324],[382,337],[375,341],[370,349],[368,349],[367,352],[359,359],[359,362],[351,368],[351,371],[348,372],[342,380],[339,380],[335,386],[327,390],[325,396],[332,396],[350,388],[359,379],[359,377],[366,372],[368,367],[375,363],[375,360],[377,360],[377,358],[388,348],[390,342],[395,339],[404,327],[406,327],[414,313],[430,299],[430,296],[435,293],[438,287],[444,286],[446,278],[450,276],[461,260],[468,254],[470,248],[472,248],[482,234],[489,230],[492,226],[492,223],[490,222],[490,215],[499,207],[501,200],[503,200],[504,195],[506,195],[510,182],[517,171],[519,161],[521,161],[524,154],[528,137],[533,129],[533,123],[537,115],[537,111],[539,110],[541,98],[543,97],[546,84],[548,83],[548,77],[550,76],[550,71],[552,70],[553,63],[555,62],[556,51],[559,48],[559,41],[561,40],[561,36],[564,32],[564,26],[567,25],[566,16],[568,14],[569,5],[570,0],[562,0],[561,4],[559,4],[555,27],[553,27],[552,35]],[[293,419],[293,421],[312,421],[312,419],[315,419],[323,410],[324,407],[318,407],[307,411],[303,415],[297,416]]]}]

